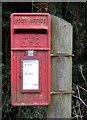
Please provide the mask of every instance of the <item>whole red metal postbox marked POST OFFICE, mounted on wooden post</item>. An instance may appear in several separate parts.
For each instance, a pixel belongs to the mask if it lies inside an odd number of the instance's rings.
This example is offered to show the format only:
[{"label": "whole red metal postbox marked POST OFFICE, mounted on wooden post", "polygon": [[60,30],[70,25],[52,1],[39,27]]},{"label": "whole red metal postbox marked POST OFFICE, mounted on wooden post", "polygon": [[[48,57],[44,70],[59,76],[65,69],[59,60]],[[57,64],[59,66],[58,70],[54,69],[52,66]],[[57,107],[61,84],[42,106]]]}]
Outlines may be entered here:
[{"label": "whole red metal postbox marked POST OFFICE, mounted on wooden post", "polygon": [[11,15],[11,104],[50,103],[50,15]]}]

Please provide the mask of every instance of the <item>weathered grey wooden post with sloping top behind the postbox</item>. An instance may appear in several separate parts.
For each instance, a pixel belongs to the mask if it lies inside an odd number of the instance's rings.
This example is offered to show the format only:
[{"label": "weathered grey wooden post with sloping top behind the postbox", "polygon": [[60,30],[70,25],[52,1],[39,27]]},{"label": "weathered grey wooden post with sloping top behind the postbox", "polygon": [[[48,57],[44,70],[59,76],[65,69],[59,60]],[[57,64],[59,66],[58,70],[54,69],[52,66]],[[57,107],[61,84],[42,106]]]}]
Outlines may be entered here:
[{"label": "weathered grey wooden post with sloping top behind the postbox", "polygon": [[[72,54],[72,25],[51,16],[51,53]],[[51,92],[72,91],[72,57],[51,57]],[[71,118],[72,94],[52,94],[46,118]]]}]

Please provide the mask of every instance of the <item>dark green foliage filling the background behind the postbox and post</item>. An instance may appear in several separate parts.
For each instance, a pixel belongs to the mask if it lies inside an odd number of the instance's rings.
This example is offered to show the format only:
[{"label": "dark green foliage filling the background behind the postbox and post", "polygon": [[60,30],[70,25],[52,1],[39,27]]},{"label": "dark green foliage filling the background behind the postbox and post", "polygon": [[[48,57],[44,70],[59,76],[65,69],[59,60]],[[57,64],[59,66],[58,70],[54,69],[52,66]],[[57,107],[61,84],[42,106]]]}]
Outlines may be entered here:
[{"label": "dark green foliage filling the background behind the postbox and post", "polygon": [[[72,117],[80,120],[87,119],[87,4],[86,3],[31,3],[14,2],[3,3],[2,6],[3,31],[3,120],[44,119],[46,107],[13,107],[10,104],[10,14],[13,12],[49,12],[61,17],[73,25],[73,90],[81,100],[73,96]],[[85,78],[85,80],[84,80]],[[84,104],[84,103],[86,104]]]}]

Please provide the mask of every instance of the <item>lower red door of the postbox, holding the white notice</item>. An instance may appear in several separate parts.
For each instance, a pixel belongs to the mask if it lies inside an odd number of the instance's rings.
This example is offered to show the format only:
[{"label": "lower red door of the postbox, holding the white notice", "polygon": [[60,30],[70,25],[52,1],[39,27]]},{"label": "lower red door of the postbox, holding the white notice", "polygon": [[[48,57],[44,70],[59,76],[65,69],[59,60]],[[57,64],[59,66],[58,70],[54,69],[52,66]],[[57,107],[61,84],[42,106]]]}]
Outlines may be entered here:
[{"label": "lower red door of the postbox, holding the white notice", "polygon": [[[49,57],[48,51],[34,51],[34,56],[28,56],[28,51],[14,51],[13,57],[14,58],[14,65],[13,65],[13,73],[16,74],[14,76],[13,83],[15,91],[15,101],[14,96],[12,97],[12,104],[15,105],[48,105],[50,102],[50,75],[49,75],[49,63],[50,63],[50,57]],[[23,63],[24,61],[24,63]],[[29,71],[23,70],[23,64],[29,64],[31,61],[35,62],[33,67],[36,67],[35,69],[38,70],[36,73],[31,72],[36,75],[36,81],[35,78],[32,78],[32,75],[28,75],[28,79],[25,78],[24,80],[24,89],[23,89],[23,72],[24,74],[27,72],[29,74]],[[38,61],[38,62],[37,62]],[[30,69],[32,69],[31,67]],[[17,68],[17,69],[15,69]],[[29,67],[28,67],[29,68]],[[27,80],[27,81],[26,81]],[[33,81],[32,81],[33,80]],[[34,86],[34,83],[36,87]],[[27,85],[26,85],[27,84]],[[32,88],[31,88],[31,86]],[[13,94],[13,95],[14,95]]]}]

